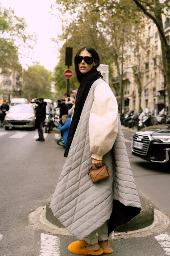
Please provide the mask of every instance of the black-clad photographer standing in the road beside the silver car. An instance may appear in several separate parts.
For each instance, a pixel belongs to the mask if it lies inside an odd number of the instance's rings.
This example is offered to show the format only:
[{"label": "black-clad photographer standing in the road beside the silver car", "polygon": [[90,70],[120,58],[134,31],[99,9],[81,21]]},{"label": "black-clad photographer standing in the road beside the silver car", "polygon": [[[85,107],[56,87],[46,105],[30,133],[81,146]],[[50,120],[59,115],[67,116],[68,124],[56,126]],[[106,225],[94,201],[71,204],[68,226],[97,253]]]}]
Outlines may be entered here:
[{"label": "black-clad photographer standing in the road beside the silver car", "polygon": [[38,139],[36,141],[45,141],[43,135],[43,123],[46,118],[46,105],[43,98],[39,98],[36,102],[36,128],[38,129]]}]

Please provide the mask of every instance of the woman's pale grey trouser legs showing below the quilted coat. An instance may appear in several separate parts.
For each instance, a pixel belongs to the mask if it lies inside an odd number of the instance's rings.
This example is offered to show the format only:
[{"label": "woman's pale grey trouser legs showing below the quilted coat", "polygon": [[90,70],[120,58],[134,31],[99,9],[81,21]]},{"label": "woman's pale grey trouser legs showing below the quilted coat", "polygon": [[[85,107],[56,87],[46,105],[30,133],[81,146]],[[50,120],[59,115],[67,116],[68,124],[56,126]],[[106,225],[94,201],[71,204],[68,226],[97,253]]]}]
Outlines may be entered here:
[{"label": "woman's pale grey trouser legs showing below the quilted coat", "polygon": [[108,237],[108,221],[106,221],[100,228],[91,232],[87,237],[84,237],[88,244],[95,244],[98,241],[112,240],[114,238],[114,232]]}]

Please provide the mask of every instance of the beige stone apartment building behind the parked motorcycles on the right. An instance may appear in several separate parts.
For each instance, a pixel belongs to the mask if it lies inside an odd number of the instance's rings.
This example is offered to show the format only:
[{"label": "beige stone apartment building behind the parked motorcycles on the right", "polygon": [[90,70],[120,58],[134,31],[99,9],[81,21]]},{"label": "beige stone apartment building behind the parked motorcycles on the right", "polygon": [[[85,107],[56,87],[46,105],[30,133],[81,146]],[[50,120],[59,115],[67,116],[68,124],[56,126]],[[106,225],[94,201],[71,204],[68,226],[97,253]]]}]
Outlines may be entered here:
[{"label": "beige stone apartment building behind the parked motorcycles on the right", "polygon": [[[169,44],[170,19],[164,17],[163,22],[166,39]],[[137,110],[139,109],[139,101],[141,100],[140,106],[142,109],[148,107],[151,112],[157,114],[164,107],[164,100],[166,100],[166,106],[168,107],[168,100],[166,90],[164,90],[165,81],[162,75],[159,33],[156,25],[150,19],[146,19],[145,30],[143,30],[141,35],[143,45],[141,41],[141,45],[138,45],[138,54],[134,54],[130,45],[123,46],[122,109],[123,111],[128,109]],[[120,78],[118,77],[116,67],[114,66],[113,68],[114,78],[112,80],[112,86],[115,89],[118,105],[120,106]],[[139,78],[140,85],[138,84]]]}]

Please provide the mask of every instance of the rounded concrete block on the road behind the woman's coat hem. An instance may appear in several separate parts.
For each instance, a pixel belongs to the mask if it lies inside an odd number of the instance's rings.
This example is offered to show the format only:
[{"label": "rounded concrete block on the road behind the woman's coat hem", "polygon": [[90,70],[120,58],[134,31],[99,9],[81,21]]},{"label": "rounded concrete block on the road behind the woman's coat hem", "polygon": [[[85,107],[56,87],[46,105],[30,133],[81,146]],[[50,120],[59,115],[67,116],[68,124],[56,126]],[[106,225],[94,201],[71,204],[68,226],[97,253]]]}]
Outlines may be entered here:
[{"label": "rounded concrete block on the road behind the woman's coat hem", "polygon": [[[49,208],[52,196],[53,195],[51,195],[51,197],[48,198],[46,204],[46,219],[52,224],[58,226],[59,228],[64,228],[61,222],[53,215],[51,208]],[[116,232],[128,232],[146,228],[147,226],[150,226],[154,222],[153,204],[148,199],[143,197],[141,194],[139,194],[139,197],[142,205],[141,212],[136,217],[134,217],[133,220],[129,221],[128,223],[122,225],[117,230],[115,230]]]}]

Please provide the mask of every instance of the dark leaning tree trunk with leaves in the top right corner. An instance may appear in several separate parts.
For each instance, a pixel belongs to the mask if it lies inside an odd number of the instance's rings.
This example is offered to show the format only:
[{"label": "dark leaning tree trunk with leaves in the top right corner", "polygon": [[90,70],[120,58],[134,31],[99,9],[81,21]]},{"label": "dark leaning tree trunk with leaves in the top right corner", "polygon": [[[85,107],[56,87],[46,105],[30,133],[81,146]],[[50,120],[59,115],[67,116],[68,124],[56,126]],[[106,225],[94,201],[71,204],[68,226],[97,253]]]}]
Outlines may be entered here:
[{"label": "dark leaning tree trunk with leaves in the top right corner", "polygon": [[162,14],[165,15],[167,19],[170,18],[169,15],[167,15],[167,10],[170,8],[169,0],[165,0],[164,3],[161,3],[159,0],[133,0],[133,2],[137,5],[139,10],[157,26],[162,50],[162,74],[166,78],[166,89],[170,106],[170,45],[166,40],[162,21]]}]

